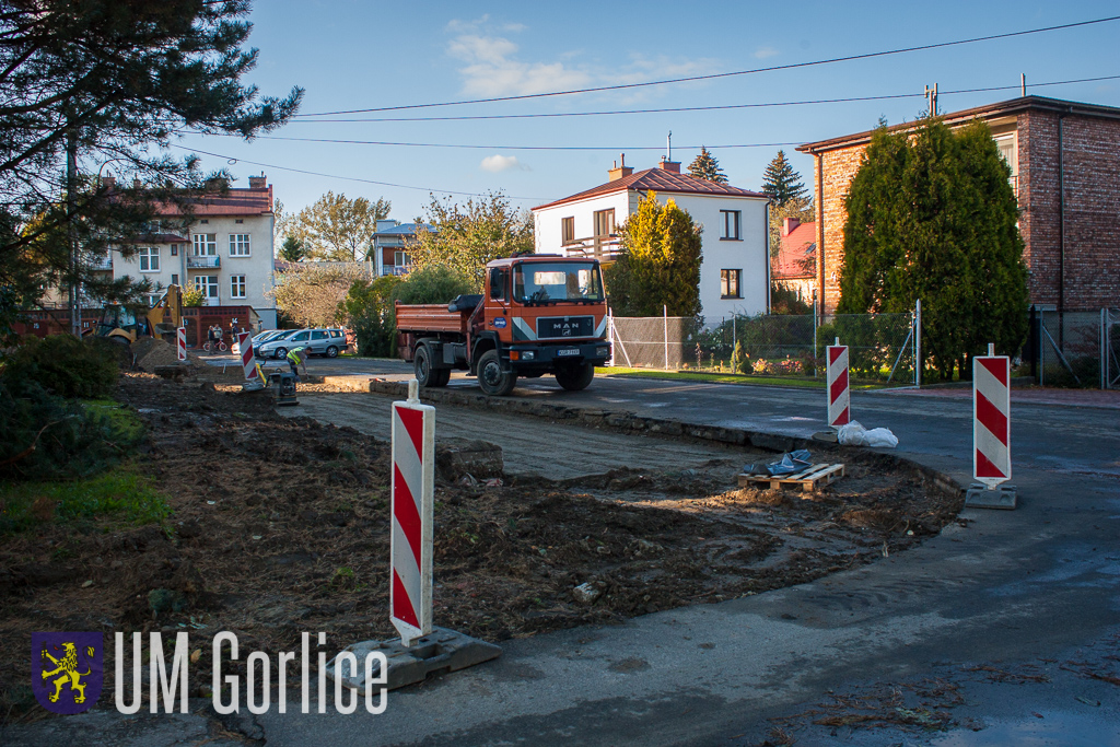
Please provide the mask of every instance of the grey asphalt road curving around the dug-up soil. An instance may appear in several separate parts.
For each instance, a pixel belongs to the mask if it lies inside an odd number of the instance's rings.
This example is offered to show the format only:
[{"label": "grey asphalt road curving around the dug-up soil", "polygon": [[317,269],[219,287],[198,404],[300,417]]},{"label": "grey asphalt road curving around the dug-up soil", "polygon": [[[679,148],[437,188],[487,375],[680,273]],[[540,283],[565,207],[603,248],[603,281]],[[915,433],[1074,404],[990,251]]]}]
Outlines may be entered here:
[{"label": "grey asphalt road curving around the dug-up soil", "polygon": [[[352,358],[310,367],[384,377],[409,371]],[[270,747],[757,745],[771,719],[791,717],[785,728],[797,745],[1120,747],[1120,688],[1077,674],[1082,665],[1114,667],[1108,656],[1120,647],[1120,402],[1090,394],[1049,398],[1065,403],[1012,398],[1017,511],[967,510],[965,526],[813,583],[504,642],[495,662],[390,693],[380,716],[273,708],[245,718]],[[801,436],[823,427],[821,391],[601,379],[568,393],[542,379],[515,396]],[[892,429],[908,458],[968,483],[967,392],[857,392],[852,412],[869,428]],[[983,675],[993,670],[1012,675]],[[1023,671],[1040,674],[1014,676]],[[830,693],[877,682],[911,692],[907,683],[928,678],[960,688],[952,715],[970,728],[856,730],[796,718]],[[83,718],[4,736],[78,744],[83,725],[95,722]],[[172,744],[155,738],[157,727],[168,730],[166,719],[151,722],[151,730],[128,727],[136,740],[120,744]]]}]

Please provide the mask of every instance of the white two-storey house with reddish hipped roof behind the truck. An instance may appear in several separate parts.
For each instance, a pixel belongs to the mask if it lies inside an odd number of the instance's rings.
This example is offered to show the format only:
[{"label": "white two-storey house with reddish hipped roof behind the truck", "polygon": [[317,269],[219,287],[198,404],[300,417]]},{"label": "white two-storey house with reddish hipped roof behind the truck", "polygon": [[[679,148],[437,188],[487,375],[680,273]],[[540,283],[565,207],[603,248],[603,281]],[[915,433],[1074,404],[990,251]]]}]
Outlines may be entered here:
[{"label": "white two-storey house with reddish hipped roof behind the truck", "polygon": [[[708,324],[732,314],[769,308],[769,197],[681,174],[676,161],[662,161],[634,172],[623,157],[607,171],[606,184],[533,208],[539,253],[597,256],[610,261],[618,251],[616,227],[653,192],[672,199],[703,227],[700,304]],[[609,288],[607,291],[609,292]]]}]

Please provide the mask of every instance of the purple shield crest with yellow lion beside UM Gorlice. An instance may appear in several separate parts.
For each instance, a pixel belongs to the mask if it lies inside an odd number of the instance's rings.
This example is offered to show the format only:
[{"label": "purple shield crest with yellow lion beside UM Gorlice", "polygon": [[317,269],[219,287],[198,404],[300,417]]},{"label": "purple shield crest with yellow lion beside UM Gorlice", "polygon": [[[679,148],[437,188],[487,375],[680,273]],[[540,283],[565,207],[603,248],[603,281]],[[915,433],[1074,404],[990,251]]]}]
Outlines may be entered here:
[{"label": "purple shield crest with yellow lion beside UM Gorlice", "polygon": [[105,679],[101,633],[32,633],[31,690],[55,713],[93,708]]}]

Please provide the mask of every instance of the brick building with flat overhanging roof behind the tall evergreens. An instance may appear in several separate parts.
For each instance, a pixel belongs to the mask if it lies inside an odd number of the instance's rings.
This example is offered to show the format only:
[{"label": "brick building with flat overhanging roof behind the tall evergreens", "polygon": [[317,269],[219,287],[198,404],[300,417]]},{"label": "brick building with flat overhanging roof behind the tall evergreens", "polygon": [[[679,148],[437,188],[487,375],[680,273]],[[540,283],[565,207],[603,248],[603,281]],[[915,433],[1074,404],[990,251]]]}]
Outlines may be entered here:
[{"label": "brick building with flat overhanging roof behind the tall evergreens", "polygon": [[[950,127],[987,122],[1011,168],[1032,302],[1120,306],[1120,109],[1024,96],[942,119]],[[840,297],[843,198],[870,139],[868,131],[797,148],[816,159],[816,282],[825,311]]]}]

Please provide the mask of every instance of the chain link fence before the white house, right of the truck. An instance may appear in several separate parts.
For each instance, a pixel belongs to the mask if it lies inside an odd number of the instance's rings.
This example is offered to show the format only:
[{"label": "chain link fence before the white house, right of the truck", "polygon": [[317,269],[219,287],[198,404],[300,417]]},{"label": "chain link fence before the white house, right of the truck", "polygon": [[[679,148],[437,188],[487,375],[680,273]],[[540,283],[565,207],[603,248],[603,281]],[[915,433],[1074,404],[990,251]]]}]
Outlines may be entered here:
[{"label": "chain link fence before the white house, right of the truck", "polygon": [[704,328],[684,317],[614,317],[614,364],[758,376],[819,377],[824,348],[849,347],[855,380],[912,385],[918,345],[916,315],[808,315],[725,318]]}]

